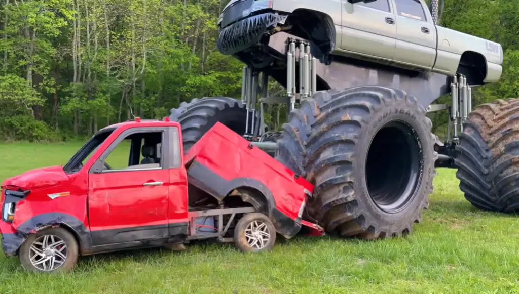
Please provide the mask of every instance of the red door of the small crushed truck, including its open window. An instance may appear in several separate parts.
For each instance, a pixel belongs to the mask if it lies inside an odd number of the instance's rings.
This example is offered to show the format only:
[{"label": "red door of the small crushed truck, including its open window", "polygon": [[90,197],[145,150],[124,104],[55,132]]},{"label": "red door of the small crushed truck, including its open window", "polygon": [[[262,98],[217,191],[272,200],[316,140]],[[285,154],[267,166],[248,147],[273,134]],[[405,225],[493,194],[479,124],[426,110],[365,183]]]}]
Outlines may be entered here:
[{"label": "red door of the small crushed truck, including its open window", "polygon": [[168,236],[168,127],[122,132],[89,170],[88,214],[93,245]]}]

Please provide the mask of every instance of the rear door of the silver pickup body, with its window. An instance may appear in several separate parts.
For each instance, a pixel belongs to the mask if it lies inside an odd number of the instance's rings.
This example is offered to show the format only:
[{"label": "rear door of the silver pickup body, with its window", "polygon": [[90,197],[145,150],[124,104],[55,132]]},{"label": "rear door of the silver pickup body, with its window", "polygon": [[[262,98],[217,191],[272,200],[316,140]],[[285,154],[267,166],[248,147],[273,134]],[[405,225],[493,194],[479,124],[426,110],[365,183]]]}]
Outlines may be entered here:
[{"label": "rear door of the silver pickup body, with its window", "polygon": [[425,3],[418,0],[392,0],[397,22],[397,48],[394,60],[431,69],[436,58],[436,30]]}]

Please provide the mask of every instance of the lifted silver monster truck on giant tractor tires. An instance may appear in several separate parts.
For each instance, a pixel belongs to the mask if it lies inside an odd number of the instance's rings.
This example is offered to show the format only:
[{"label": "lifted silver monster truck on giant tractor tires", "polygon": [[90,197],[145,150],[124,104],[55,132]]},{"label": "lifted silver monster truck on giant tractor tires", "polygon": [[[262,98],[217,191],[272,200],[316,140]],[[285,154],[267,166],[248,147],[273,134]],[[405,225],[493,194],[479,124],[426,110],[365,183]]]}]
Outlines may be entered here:
[{"label": "lifted silver monster truck on giant tractor tires", "polygon": [[[457,168],[474,206],[510,210],[518,190],[507,176],[516,172],[500,150],[513,148],[507,119],[519,102],[471,113],[471,88],[501,76],[501,45],[438,25],[438,6],[231,0],[218,20],[217,47],[245,64],[241,101],[196,99],[172,109],[171,118],[189,134],[187,145],[220,121],[269,150],[315,185],[304,218],[329,233],[377,239],[411,232],[428,206],[435,167]],[[269,77],[285,85],[285,96],[268,96]],[[431,104],[445,94],[450,105]],[[287,105],[281,131],[266,130],[263,105],[271,103]],[[449,111],[445,142],[426,117],[438,110]]]}]

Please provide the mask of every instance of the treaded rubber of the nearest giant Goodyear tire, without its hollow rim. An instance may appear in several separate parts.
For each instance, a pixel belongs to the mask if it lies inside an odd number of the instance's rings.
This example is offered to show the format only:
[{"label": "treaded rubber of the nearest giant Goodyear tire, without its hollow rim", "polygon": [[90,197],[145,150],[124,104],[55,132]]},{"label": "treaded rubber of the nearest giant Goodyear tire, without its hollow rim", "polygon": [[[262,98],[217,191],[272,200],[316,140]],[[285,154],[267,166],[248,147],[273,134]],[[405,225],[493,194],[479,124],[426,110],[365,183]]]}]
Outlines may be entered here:
[{"label": "treaded rubber of the nearest giant Goodyear tire, without its hollow rim", "polygon": [[[344,237],[377,239],[411,232],[412,223],[420,221],[422,209],[428,206],[427,197],[422,197],[409,223],[384,225],[377,219],[366,219],[370,213],[358,202],[354,180],[358,172],[355,152],[361,131],[378,110],[398,101],[402,105],[403,100],[424,115],[430,133],[432,123],[414,97],[377,86],[317,92],[311,99],[304,100],[300,109],[292,111],[289,121],[283,125],[285,135],[279,141],[277,158],[294,171],[302,169],[301,164],[295,166],[294,162],[304,162],[302,174],[306,172],[306,178],[315,183],[314,198],[307,209],[326,231]],[[305,123],[310,128],[304,127]],[[299,134],[295,136],[294,130]],[[294,137],[299,140],[294,141]],[[432,138],[431,134],[426,144],[432,146]],[[297,148],[291,148],[294,142]],[[293,149],[297,152],[291,152]],[[291,157],[285,156],[288,154]],[[430,187],[425,189],[427,195],[432,193],[432,178],[429,183]]]}]

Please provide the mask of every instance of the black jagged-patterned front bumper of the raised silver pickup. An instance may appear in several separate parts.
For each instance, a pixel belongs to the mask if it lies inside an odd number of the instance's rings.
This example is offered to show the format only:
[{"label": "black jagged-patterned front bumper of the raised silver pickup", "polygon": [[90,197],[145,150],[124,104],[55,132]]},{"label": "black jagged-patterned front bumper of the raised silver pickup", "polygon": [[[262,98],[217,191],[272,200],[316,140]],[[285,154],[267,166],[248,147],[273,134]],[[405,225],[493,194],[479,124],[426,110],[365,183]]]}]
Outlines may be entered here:
[{"label": "black jagged-patterned front bumper of the raised silver pickup", "polygon": [[266,12],[234,22],[220,31],[216,46],[222,54],[226,55],[243,51],[258,44],[263,33],[276,23],[283,23],[287,17],[274,12]]}]

